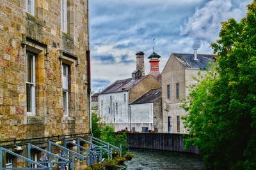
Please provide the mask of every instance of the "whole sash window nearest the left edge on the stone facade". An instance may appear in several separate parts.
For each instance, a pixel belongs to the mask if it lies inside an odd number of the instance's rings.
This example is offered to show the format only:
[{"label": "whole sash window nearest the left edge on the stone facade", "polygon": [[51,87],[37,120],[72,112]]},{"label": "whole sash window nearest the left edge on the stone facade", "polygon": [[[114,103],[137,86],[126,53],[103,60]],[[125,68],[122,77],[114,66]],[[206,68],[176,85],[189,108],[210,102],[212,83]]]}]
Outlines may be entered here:
[{"label": "whole sash window nearest the left edge on the stone facade", "polygon": [[26,52],[26,92],[27,92],[27,114],[36,113],[36,70],[35,54]]}]

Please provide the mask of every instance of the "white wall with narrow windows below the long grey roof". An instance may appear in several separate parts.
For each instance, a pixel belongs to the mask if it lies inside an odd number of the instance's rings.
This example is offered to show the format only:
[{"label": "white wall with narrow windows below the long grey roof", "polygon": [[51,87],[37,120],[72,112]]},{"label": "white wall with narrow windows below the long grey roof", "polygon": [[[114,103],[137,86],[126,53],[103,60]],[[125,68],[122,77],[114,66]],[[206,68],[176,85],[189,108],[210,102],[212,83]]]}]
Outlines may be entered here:
[{"label": "white wall with narrow windows below the long grey roof", "polygon": [[[124,94],[126,99],[124,100]],[[112,103],[110,101],[112,96]],[[117,103],[117,110],[116,110]],[[106,124],[113,124],[115,131],[121,131],[129,124],[128,117],[128,92],[115,92],[110,94],[99,95],[99,116],[102,118],[101,122]],[[110,108],[110,113],[109,113]],[[129,128],[129,127],[127,127]]]}]

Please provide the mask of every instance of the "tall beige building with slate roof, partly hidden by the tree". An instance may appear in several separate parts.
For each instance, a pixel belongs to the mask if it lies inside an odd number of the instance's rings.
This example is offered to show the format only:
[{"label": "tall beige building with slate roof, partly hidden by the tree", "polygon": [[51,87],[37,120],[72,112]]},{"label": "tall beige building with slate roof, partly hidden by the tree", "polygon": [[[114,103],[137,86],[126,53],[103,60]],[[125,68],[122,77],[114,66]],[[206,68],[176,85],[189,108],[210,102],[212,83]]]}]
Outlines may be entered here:
[{"label": "tall beige building with slate roof, partly hidden by the tree", "polygon": [[189,96],[189,85],[196,83],[198,72],[205,74],[214,55],[172,53],[164,66],[162,76],[163,132],[187,133],[182,116],[188,115],[180,108],[182,99]]}]

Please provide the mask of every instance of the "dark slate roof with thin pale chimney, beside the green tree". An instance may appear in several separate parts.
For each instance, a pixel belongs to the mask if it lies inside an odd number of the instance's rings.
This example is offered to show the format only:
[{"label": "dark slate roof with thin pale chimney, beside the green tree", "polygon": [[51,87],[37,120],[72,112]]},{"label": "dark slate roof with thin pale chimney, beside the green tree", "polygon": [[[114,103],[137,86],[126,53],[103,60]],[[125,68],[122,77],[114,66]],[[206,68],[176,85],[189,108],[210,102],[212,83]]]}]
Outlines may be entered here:
[{"label": "dark slate roof with thin pale chimney, beside the green tree", "polygon": [[194,60],[193,53],[173,53],[175,57],[182,63],[184,67],[195,69],[206,69],[209,63],[214,62],[214,55],[197,54],[198,61]]}]

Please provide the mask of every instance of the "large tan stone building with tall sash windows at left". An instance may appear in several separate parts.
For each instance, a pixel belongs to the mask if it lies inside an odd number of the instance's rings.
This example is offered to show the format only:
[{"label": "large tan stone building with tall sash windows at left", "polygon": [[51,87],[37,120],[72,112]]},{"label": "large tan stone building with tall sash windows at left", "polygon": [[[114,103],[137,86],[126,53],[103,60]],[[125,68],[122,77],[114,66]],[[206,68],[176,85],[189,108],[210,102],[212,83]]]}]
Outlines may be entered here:
[{"label": "large tan stone building with tall sash windows at left", "polygon": [[88,134],[88,1],[2,0],[0,18],[0,146]]}]

